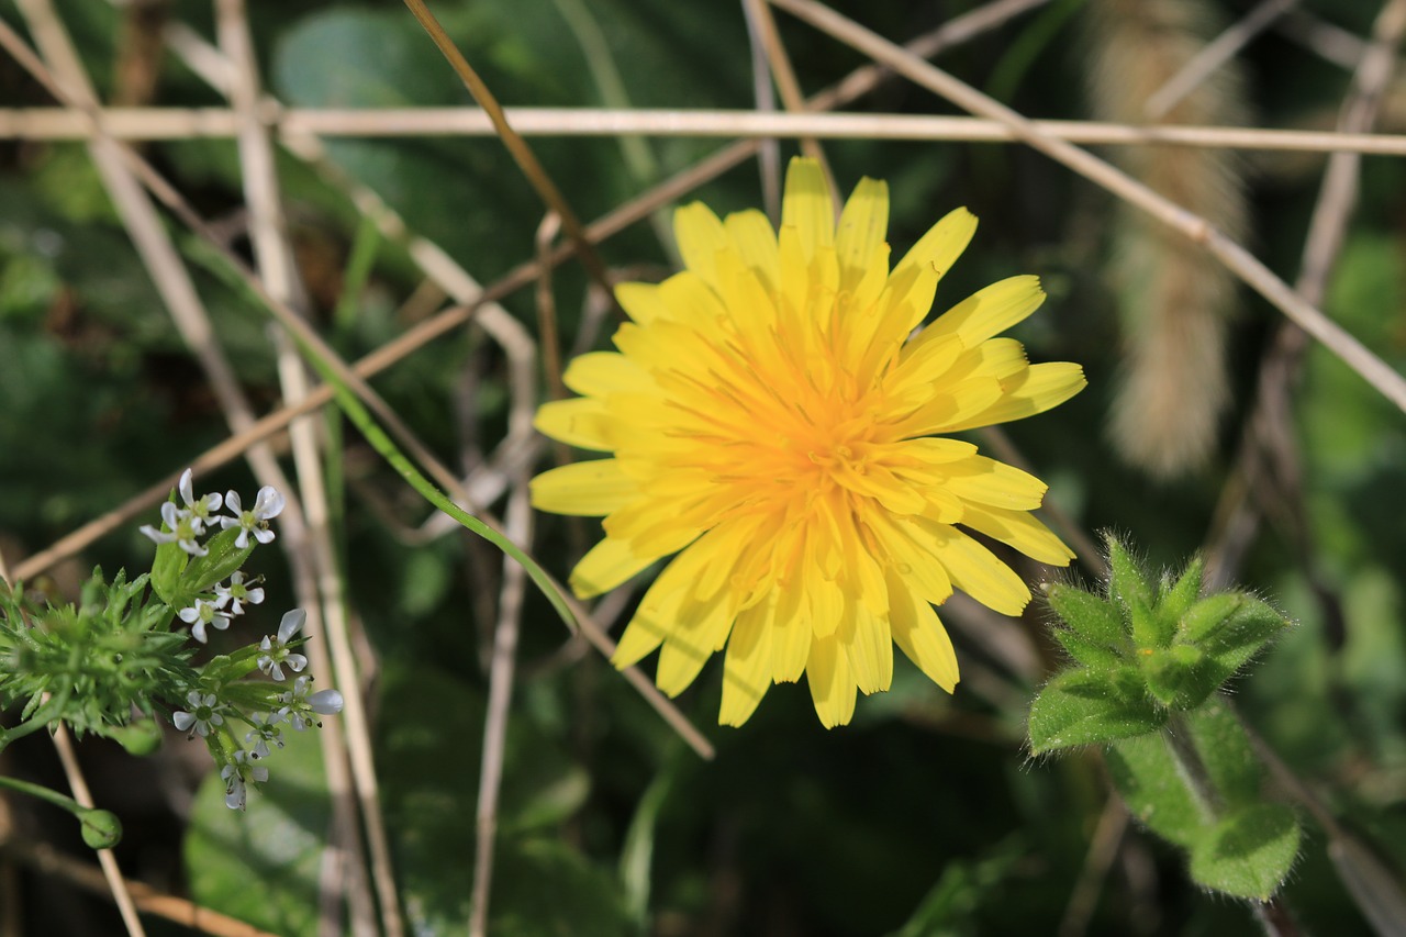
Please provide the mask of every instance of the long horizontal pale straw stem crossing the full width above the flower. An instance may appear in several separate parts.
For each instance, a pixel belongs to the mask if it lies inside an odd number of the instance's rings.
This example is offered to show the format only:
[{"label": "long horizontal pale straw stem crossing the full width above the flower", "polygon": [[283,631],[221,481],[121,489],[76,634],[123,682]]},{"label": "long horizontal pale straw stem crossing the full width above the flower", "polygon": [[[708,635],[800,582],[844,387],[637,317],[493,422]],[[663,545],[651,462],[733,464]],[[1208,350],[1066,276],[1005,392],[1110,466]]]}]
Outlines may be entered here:
[{"label": "long horizontal pale straw stem crossing the full width above the flower", "polygon": [[[817,96],[820,97],[820,96]],[[811,98],[807,106],[814,106]],[[271,98],[264,98],[271,101]],[[492,136],[484,111],[472,107],[262,108],[290,149],[309,136]],[[600,107],[516,107],[508,117],[523,136],[697,136],[963,141],[1019,144],[1000,120],[941,114],[758,113],[741,110],[612,110]],[[108,107],[98,111],[101,132],[127,141],[225,139],[238,132],[235,111],[219,107]],[[1119,124],[1109,121],[1029,121],[1040,134],[1090,146],[1188,146],[1264,152],[1357,152],[1406,156],[1406,135],[1299,131],[1270,127]],[[58,107],[0,108],[0,139],[87,139],[97,129],[83,113]],[[301,153],[299,153],[301,155]],[[751,155],[751,152],[748,152]],[[589,228],[588,228],[589,232]]]}]

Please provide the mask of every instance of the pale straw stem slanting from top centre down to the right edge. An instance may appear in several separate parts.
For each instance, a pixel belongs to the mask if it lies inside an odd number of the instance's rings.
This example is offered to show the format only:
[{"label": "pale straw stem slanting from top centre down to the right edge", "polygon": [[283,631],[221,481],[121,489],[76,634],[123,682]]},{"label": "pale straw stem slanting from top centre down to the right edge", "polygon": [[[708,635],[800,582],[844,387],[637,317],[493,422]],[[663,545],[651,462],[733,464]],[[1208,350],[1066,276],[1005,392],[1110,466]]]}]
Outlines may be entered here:
[{"label": "pale straw stem slanting from top centre down to the right edge", "polygon": [[917,84],[945,97],[973,114],[1001,121],[1026,145],[1069,166],[1080,176],[1102,186],[1149,212],[1194,243],[1202,245],[1237,277],[1275,308],[1322,342],[1333,355],[1357,371],[1378,393],[1406,411],[1406,378],[1372,355],[1336,322],[1310,302],[1305,302],[1286,283],[1274,276],[1254,255],[1212,228],[1205,218],[1163,198],[1146,186],[1109,166],[1092,153],[1040,132],[1031,121],[990,96],[905,52],[883,37],[865,30],[830,7],[814,0],[772,0],[776,6],[810,23],[823,32],[882,62]]}]

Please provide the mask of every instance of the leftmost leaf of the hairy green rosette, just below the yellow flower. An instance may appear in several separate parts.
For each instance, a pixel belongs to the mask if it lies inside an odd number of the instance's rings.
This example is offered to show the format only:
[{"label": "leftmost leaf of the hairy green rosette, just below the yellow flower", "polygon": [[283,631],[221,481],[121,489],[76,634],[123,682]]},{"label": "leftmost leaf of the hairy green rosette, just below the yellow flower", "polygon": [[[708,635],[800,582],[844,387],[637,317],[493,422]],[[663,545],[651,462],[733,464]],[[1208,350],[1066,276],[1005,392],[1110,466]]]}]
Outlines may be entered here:
[{"label": "leftmost leaf of the hairy green rosette, just below the yellow flower", "polygon": [[1031,705],[1031,751],[1128,739],[1166,722],[1167,712],[1147,698],[1136,668],[1073,670],[1054,677]]}]

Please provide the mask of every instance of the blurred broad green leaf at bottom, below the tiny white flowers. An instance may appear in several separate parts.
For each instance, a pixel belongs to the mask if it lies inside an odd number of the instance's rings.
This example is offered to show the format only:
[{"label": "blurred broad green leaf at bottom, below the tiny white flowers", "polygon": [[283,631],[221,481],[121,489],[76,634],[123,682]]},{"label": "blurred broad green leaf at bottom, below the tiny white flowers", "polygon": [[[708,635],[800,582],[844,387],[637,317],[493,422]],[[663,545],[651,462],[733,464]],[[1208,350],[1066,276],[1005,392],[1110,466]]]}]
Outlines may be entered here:
[{"label": "blurred broad green leaf at bottom, below the tiny white flowers", "polygon": [[276,934],[314,937],[332,805],[318,733],[284,737],[287,744],[264,763],[269,781],[250,786],[246,810],[225,806],[218,771],[201,784],[186,871],[197,903]]}]

